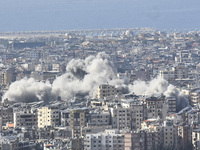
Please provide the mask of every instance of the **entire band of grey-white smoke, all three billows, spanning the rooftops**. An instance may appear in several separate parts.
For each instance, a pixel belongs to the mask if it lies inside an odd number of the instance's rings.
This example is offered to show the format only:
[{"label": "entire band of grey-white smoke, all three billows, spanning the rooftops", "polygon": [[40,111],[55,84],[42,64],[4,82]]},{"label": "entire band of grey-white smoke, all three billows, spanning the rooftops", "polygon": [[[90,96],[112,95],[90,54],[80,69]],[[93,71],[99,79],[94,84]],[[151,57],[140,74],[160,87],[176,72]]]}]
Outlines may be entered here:
[{"label": "entire band of grey-white smoke, all three billows, spanning the rooftops", "polygon": [[66,67],[66,73],[57,77],[53,84],[37,82],[33,78],[16,81],[10,85],[3,99],[34,102],[51,101],[60,96],[62,100],[69,100],[77,93],[87,93],[90,98],[93,98],[97,95],[98,86],[108,83],[120,88],[123,93],[144,96],[164,94],[166,97],[176,97],[178,108],[188,105],[184,94],[164,79],[155,78],[150,82],[138,80],[133,85],[128,85],[127,78],[117,79],[116,74],[110,57],[105,53],[99,53],[96,56],[89,56],[85,60],[71,60]]}]

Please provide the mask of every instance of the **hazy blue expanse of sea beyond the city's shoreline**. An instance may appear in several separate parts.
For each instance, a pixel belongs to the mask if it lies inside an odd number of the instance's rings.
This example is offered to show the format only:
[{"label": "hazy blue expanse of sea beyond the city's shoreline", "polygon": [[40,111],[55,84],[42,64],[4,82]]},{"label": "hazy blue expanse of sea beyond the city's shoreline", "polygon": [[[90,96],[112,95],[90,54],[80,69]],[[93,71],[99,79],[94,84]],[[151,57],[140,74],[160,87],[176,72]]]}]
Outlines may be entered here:
[{"label": "hazy blue expanse of sea beyond the city's shoreline", "polygon": [[0,32],[195,29],[200,0],[0,0]]}]

